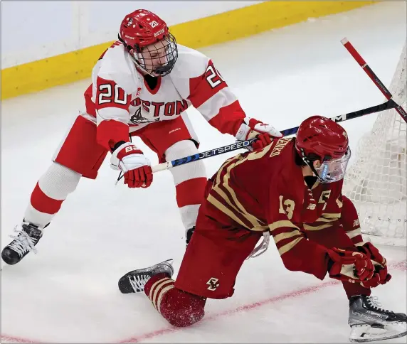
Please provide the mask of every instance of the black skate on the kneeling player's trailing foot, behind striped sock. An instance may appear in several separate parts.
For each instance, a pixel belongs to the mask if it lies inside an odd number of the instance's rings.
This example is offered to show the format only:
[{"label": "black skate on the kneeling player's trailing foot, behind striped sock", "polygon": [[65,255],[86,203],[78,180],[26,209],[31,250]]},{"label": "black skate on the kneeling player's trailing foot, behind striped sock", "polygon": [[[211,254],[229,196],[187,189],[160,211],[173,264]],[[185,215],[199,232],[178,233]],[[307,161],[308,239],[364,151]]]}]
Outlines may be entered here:
[{"label": "black skate on the kneeling player's trailing foot, behind striped sock", "polygon": [[172,267],[173,259],[167,259],[164,262],[155,264],[146,269],[133,270],[127,272],[125,276],[119,280],[119,289],[123,294],[138,293],[144,290],[147,281],[154,275],[162,274],[163,272],[172,277],[174,268]]}]

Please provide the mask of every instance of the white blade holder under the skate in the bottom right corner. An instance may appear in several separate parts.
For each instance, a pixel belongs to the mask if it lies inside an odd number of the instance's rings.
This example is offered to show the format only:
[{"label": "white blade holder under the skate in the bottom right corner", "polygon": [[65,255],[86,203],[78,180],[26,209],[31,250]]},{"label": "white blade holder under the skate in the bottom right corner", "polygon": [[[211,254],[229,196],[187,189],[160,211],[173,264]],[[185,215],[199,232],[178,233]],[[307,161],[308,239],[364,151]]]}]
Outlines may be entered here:
[{"label": "white blade holder under the skate in the bottom right corner", "polygon": [[374,328],[369,325],[366,326],[354,326],[351,330],[349,341],[352,343],[368,343],[375,342],[377,340],[388,340],[394,338],[400,338],[407,335],[406,323],[400,323],[403,329],[397,330],[398,326],[387,325],[384,328]]}]

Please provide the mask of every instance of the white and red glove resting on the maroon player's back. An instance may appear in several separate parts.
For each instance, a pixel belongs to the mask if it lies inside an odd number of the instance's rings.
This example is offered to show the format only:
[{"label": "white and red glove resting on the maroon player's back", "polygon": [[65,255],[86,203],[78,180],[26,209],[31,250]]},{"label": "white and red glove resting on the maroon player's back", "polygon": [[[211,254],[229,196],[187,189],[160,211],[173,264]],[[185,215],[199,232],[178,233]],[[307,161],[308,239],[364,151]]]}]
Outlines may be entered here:
[{"label": "white and red glove resting on the maroon player's back", "polygon": [[[263,134],[263,139],[260,138],[257,141],[258,144],[255,146],[255,149],[261,149],[268,144],[271,143],[271,140],[265,139],[266,136],[270,137],[281,137],[282,134],[280,131],[277,131],[273,126],[270,124],[265,124],[263,122],[258,121],[254,118],[245,117],[243,120],[244,122],[240,125],[238,132],[236,133],[236,139],[238,141],[245,141],[254,139],[256,136]],[[253,146],[252,146],[253,147]],[[253,148],[248,148],[249,150],[253,150]]]}]

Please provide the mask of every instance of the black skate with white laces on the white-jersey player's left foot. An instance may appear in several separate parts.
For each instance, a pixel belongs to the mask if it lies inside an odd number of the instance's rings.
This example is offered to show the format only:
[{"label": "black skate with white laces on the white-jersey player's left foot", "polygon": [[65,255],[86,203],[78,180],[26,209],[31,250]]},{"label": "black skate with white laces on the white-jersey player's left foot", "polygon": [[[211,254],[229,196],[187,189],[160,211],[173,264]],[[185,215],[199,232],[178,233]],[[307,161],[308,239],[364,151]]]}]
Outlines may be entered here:
[{"label": "black skate with white laces on the white-jersey player's left foot", "polygon": [[1,252],[1,258],[10,265],[20,262],[30,251],[36,253],[37,250],[34,246],[43,236],[43,231],[29,222],[23,222],[22,225],[16,226],[14,232],[17,232],[18,235],[10,235],[14,240]]}]

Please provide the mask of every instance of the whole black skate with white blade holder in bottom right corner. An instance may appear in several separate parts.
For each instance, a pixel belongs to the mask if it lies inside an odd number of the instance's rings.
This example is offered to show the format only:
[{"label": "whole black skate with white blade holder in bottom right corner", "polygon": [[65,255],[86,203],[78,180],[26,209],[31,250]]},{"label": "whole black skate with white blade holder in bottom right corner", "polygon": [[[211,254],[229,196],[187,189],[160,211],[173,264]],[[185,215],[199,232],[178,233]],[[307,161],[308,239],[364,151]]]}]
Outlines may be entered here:
[{"label": "whole black skate with white blade holder in bottom right corner", "polygon": [[351,342],[365,343],[403,337],[407,334],[407,316],[380,308],[376,297],[352,296],[349,301]]}]

